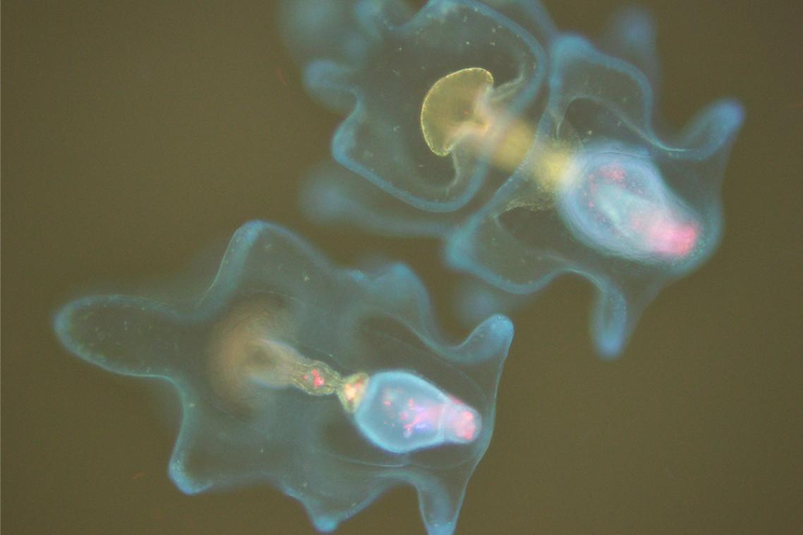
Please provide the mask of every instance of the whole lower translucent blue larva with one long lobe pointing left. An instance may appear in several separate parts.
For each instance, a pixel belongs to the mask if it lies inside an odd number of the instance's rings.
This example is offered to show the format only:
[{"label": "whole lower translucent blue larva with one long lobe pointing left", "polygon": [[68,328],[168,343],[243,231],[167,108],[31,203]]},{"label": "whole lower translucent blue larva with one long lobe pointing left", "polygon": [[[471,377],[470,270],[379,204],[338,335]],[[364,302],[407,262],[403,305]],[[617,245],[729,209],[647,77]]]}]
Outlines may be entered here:
[{"label": "whole lower translucent blue larva with one long lobe pointing left", "polygon": [[491,439],[512,325],[492,316],[448,345],[433,323],[402,264],[341,269],[254,222],[190,303],[88,296],[59,310],[55,331],[85,361],[176,388],[169,476],[183,492],[275,485],[329,531],[410,484],[429,533],[452,533]]}]

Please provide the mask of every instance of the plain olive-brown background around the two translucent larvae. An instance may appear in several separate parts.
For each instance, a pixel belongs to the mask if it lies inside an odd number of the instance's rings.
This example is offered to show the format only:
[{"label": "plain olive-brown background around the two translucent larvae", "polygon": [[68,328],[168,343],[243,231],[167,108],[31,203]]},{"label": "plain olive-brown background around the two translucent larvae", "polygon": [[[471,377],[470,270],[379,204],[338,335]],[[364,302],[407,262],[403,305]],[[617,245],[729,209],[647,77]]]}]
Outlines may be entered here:
[{"label": "plain olive-brown background around the two translucent larvae", "polygon": [[[548,2],[596,35],[614,0]],[[747,108],[727,232],[597,360],[589,284],[552,284],[517,326],[458,533],[800,533],[803,32],[799,2],[647,2],[662,112]],[[321,229],[296,210],[338,117],[300,87],[271,2],[2,5],[3,533],[312,533],[272,488],[183,496],[149,387],[57,345],[55,306],[158,280],[250,218],[341,263],[405,259],[450,325],[437,244]],[[284,84],[279,77],[286,80]],[[127,288],[127,286],[123,286]],[[419,533],[410,488],[340,533]]]}]

